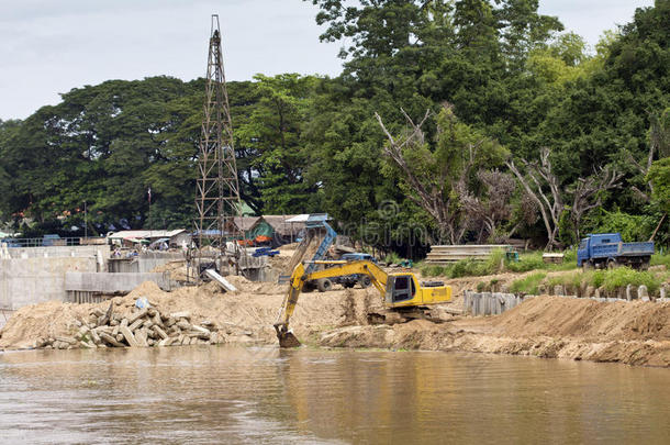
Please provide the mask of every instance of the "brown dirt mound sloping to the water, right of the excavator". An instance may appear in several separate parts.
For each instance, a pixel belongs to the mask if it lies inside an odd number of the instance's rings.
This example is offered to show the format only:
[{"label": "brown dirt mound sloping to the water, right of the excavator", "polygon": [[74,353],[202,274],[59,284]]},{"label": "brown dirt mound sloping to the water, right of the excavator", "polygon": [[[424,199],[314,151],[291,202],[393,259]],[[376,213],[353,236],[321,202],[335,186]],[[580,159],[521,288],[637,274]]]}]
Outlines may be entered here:
[{"label": "brown dirt mound sloping to the water, right of the excavator", "polygon": [[670,367],[670,303],[536,297],[502,315],[434,324],[347,326],[319,344],[468,351]]}]

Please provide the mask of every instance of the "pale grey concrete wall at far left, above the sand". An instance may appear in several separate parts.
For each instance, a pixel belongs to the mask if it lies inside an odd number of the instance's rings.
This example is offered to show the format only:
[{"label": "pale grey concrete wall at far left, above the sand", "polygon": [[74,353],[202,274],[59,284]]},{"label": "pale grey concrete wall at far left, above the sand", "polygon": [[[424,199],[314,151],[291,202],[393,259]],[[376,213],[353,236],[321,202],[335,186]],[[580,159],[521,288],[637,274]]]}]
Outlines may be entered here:
[{"label": "pale grey concrete wall at far left, above the sand", "polygon": [[0,309],[16,310],[43,301],[64,301],[67,271],[94,272],[97,269],[94,256],[0,259]]}]

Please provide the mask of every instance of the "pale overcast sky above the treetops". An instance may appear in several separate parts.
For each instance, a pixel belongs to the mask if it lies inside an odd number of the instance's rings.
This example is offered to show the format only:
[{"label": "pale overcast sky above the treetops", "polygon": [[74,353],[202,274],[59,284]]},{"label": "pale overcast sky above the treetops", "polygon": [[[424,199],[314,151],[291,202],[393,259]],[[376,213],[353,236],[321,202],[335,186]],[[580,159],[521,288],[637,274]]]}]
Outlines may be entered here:
[{"label": "pale overcast sky above the treetops", "polygon": [[[654,0],[540,0],[595,44]],[[319,42],[316,7],[302,0],[0,0],[0,119],[24,119],[58,93],[108,79],[205,71],[210,15],[223,32],[226,77],[342,70],[340,44]]]}]

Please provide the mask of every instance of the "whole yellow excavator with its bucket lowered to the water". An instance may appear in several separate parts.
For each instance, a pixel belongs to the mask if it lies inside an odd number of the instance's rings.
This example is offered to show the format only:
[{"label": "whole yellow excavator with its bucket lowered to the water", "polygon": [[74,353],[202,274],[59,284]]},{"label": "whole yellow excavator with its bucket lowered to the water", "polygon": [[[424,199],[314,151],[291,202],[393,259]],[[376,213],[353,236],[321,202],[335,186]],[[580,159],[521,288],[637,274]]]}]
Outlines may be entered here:
[{"label": "whole yellow excavator with its bucket lowered to the water", "polygon": [[295,266],[291,274],[289,290],[275,323],[280,347],[300,346],[295,335],[289,331],[289,319],[295,310],[300,292],[302,292],[306,281],[345,275],[367,275],[384,298],[386,308],[383,314],[368,314],[368,321],[371,324],[403,322],[411,319],[432,319],[428,305],[451,301],[451,288],[449,286],[445,286],[442,281],[420,283],[416,276],[410,271],[387,274],[370,260],[323,260],[315,263],[324,265],[325,268],[308,274],[301,263]]}]

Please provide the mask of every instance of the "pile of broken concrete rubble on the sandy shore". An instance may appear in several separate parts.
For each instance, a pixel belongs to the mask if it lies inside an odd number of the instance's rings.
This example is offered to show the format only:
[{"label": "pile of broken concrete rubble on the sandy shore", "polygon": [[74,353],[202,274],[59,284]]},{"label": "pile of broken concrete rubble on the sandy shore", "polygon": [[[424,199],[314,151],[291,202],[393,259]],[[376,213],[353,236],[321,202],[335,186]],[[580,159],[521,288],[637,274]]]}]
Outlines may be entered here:
[{"label": "pile of broken concrete rubble on the sandy shore", "polygon": [[114,312],[111,302],[107,312],[94,309],[88,320],[76,322],[74,336],[38,338],[35,347],[45,349],[150,347],[208,345],[223,343],[217,326],[209,321],[191,323],[189,312],[160,313],[156,308],[134,309],[124,316]]}]

